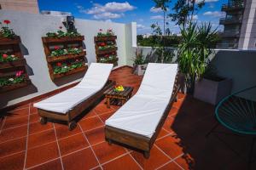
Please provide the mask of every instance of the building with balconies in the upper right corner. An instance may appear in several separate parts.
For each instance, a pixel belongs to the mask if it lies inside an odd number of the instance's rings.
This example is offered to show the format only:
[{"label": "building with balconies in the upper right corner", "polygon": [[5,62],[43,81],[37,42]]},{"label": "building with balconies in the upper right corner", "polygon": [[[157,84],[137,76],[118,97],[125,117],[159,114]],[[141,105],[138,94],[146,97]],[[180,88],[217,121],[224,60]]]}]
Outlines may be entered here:
[{"label": "building with balconies in the upper right corner", "polygon": [[256,0],[229,0],[221,10],[226,16],[219,20],[224,31],[218,48],[256,49]]}]

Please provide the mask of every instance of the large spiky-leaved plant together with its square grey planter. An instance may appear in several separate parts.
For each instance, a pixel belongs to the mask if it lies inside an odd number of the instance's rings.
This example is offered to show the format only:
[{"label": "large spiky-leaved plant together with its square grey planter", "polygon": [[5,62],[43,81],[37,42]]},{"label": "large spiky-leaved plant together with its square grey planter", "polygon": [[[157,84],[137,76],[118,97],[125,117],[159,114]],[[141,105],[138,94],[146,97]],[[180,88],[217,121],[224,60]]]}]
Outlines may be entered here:
[{"label": "large spiky-leaved plant together with its square grey planter", "polygon": [[[206,76],[206,71],[210,64],[209,57],[214,54],[212,44],[218,41],[216,36],[217,30],[212,30],[210,23],[203,23],[201,26],[197,26],[196,23],[190,22],[189,26],[183,26],[183,28],[181,28],[181,34],[183,41],[178,46],[177,62],[179,64],[179,70],[186,78],[184,92],[193,93],[195,90],[195,98],[215,105],[219,99],[223,98],[223,94],[226,95],[230,93],[231,86],[230,81],[228,81],[228,83],[224,85],[226,86],[224,92],[221,93],[220,90],[222,89],[216,87],[221,86],[223,83],[218,82],[223,82],[224,79],[221,77],[216,79],[216,76],[212,78]],[[211,81],[205,81],[206,79],[210,79]],[[208,82],[212,84],[208,85]],[[199,89],[202,87],[204,89]],[[214,102],[208,100],[211,97],[215,99]]]}]

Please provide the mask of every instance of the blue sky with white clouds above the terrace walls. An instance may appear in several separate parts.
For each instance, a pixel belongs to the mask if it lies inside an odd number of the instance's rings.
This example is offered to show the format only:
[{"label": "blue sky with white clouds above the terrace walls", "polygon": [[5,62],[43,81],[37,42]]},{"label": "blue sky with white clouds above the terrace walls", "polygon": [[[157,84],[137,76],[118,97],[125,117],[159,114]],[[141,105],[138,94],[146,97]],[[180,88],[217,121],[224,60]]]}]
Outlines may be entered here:
[{"label": "blue sky with white clouds above the terrace walls", "polygon": [[[173,4],[170,3],[169,13],[172,12]],[[197,0],[201,1],[201,0]],[[227,0],[206,0],[206,5],[196,14],[195,19],[211,21],[212,26],[218,26],[218,20],[223,17],[220,8]],[[38,0],[40,10],[55,10],[71,12],[75,18],[87,20],[104,20],[107,22],[130,23],[137,22],[137,34],[150,33],[150,25],[158,22],[163,25],[163,13],[154,7],[152,0]],[[177,33],[179,27],[170,22],[170,30]],[[218,26],[218,29],[222,29]]]}]

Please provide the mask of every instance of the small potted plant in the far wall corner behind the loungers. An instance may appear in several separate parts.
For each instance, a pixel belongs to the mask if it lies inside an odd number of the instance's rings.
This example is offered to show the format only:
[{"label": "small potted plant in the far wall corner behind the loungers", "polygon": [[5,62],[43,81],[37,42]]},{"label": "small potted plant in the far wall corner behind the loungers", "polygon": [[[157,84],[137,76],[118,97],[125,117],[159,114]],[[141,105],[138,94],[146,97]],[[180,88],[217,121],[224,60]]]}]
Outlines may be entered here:
[{"label": "small potted plant in the far wall corner behind the loungers", "polygon": [[143,49],[137,48],[136,56],[133,60],[133,74],[137,74],[138,76],[142,76],[147,68],[146,59],[143,56]]}]

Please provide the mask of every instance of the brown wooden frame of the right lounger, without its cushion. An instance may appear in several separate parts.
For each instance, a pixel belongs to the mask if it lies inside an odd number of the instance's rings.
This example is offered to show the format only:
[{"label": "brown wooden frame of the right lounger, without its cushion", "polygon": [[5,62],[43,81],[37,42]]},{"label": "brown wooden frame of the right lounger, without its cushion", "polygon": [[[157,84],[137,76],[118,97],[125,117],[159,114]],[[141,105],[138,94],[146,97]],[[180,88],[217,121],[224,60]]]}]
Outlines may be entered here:
[{"label": "brown wooden frame of the right lounger, without its cushion", "polygon": [[177,101],[177,93],[180,90],[181,86],[183,86],[183,81],[183,75],[177,74],[169,105],[166,107],[166,110],[161,117],[160,122],[151,138],[106,125],[105,139],[108,144],[121,144],[124,146],[128,146],[131,149],[143,151],[144,157],[148,158],[150,156],[150,150],[154,144],[154,141],[160,133],[160,129],[166,121],[166,117],[168,116],[168,113],[172,108],[172,104]]}]

